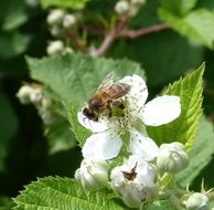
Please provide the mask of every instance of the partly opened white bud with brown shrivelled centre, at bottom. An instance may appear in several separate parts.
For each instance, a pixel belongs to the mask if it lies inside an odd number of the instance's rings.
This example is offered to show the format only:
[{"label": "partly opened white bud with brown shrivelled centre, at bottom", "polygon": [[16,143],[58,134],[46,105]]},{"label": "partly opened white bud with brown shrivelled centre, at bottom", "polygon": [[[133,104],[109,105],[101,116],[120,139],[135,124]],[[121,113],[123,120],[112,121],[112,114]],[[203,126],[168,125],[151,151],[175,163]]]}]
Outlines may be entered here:
[{"label": "partly opened white bud with brown shrivelled centre, at bottom", "polygon": [[154,166],[139,156],[130,156],[122,166],[113,169],[111,188],[121,196],[128,207],[138,208],[142,201],[157,196],[156,177]]}]

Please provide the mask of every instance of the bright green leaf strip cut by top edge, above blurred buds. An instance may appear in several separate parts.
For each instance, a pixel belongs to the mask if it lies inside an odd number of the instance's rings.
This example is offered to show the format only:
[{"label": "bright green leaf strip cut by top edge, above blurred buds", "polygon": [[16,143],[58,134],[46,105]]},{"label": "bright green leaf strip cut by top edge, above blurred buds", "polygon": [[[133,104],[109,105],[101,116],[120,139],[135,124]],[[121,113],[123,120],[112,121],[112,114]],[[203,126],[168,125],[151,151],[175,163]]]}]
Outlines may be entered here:
[{"label": "bright green leaf strip cut by top edge, above blurred buds", "polygon": [[65,9],[81,10],[89,0],[41,0],[44,8],[60,7]]}]

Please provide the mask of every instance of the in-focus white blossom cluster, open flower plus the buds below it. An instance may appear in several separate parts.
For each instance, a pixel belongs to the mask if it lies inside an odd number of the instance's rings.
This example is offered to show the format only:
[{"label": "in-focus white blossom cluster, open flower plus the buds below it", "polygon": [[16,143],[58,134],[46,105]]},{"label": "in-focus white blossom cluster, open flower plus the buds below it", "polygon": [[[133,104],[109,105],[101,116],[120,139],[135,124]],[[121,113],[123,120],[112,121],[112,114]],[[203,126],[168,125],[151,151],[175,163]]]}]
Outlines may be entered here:
[{"label": "in-focus white blossom cluster, open flower plus the buds below it", "polygon": [[[139,129],[139,122],[148,126],[168,124],[180,116],[181,104],[180,97],[170,95],[146,103],[148,88],[139,75],[125,76],[118,83],[130,86],[120,98],[124,107],[119,112],[113,105],[113,114],[100,113],[98,122],[88,119],[83,109],[77,114],[78,122],[93,134],[82,148],[84,160],[75,178],[89,190],[110,186],[128,207],[137,208],[158,196],[160,174],[179,172],[189,162],[181,143],[159,148]],[[124,158],[122,165],[113,164],[118,157]]]}]

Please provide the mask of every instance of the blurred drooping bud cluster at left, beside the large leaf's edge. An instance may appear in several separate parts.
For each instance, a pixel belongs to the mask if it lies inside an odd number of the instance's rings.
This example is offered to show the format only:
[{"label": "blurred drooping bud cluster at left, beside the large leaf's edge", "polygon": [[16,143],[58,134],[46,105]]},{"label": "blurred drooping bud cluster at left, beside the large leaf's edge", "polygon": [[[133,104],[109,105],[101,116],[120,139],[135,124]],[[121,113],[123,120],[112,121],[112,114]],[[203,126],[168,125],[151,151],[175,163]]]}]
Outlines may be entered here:
[{"label": "blurred drooping bud cluster at left, beside the large leaf's edge", "polygon": [[52,125],[56,120],[56,114],[53,108],[53,102],[45,97],[43,87],[38,84],[25,84],[20,87],[17,97],[22,104],[33,104],[44,125]]}]

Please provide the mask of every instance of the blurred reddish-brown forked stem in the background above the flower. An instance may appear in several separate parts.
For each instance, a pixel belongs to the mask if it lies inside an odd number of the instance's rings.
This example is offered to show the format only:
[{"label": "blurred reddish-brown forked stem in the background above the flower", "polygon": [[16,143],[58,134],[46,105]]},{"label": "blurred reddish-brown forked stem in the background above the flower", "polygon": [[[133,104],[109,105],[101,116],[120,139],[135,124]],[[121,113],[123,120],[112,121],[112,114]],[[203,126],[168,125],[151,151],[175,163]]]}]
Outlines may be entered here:
[{"label": "blurred reddish-brown forked stem in the background above the flower", "polygon": [[131,30],[126,28],[125,23],[127,22],[122,21],[117,28],[113,28],[109,32],[107,32],[100,46],[92,51],[90,55],[96,57],[103,56],[108,51],[108,49],[110,49],[113,43],[119,38],[136,39],[141,35],[169,29],[169,27],[165,23],[161,23],[161,24],[156,24],[148,28]]}]

